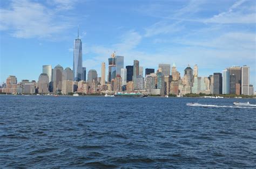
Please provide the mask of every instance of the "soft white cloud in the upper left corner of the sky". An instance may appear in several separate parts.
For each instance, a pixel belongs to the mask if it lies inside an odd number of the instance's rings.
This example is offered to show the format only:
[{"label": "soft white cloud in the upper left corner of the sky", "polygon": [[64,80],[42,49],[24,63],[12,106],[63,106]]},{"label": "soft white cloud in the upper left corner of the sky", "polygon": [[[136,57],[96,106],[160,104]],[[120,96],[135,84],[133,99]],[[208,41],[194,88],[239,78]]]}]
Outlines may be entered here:
[{"label": "soft white cloud in the upper left corner of the sky", "polygon": [[10,30],[17,38],[51,38],[68,29],[68,22],[56,21],[56,13],[44,5],[26,0],[13,1],[8,9],[0,9],[0,29]]}]

